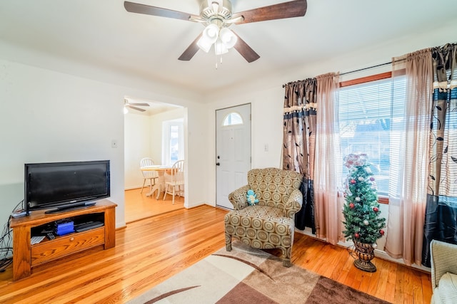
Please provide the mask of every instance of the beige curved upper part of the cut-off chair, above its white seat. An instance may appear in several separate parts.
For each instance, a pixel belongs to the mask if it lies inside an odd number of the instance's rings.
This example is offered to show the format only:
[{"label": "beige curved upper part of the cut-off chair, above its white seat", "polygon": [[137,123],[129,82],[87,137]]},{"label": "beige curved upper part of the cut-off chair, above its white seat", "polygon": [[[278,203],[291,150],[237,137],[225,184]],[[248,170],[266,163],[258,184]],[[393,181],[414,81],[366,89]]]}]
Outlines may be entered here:
[{"label": "beige curved upper part of the cut-off chair, above its white seat", "polygon": [[430,243],[431,283],[438,286],[444,273],[457,274],[457,245],[432,240]]}]

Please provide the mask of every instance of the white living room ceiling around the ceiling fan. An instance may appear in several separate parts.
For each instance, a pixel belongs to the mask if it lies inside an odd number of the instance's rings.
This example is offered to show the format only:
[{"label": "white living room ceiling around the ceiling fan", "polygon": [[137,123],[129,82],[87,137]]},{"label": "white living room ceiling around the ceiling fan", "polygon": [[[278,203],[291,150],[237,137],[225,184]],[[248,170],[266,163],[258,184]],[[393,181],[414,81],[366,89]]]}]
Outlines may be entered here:
[{"label": "white living room ceiling around the ceiling fan", "polygon": [[[199,14],[199,0],[130,1]],[[237,12],[284,1],[232,4]],[[448,19],[455,21],[456,11],[456,0],[308,0],[304,17],[231,26],[261,58],[247,63],[233,49],[217,70],[211,52],[199,51],[191,61],[177,60],[201,33],[201,24],[129,13],[123,0],[1,0],[0,39],[206,94],[335,53],[430,31]]]}]

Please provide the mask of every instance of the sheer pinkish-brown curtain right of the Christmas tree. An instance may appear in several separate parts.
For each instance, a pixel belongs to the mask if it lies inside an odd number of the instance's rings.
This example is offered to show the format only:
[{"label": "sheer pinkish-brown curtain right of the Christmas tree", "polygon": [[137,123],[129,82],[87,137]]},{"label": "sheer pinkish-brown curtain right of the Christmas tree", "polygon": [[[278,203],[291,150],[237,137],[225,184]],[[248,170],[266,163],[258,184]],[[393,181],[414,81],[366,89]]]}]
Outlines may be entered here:
[{"label": "sheer pinkish-brown curtain right of the Christmas tree", "polygon": [[[431,50],[425,49],[393,58],[393,97],[396,87],[406,81],[404,119],[393,120],[391,138],[389,204],[384,251],[403,258],[406,265],[421,265],[423,221],[428,176],[428,137],[433,82]],[[404,88],[404,85],[403,85]],[[404,89],[403,89],[404,90]],[[398,171],[395,168],[399,168]]]}]

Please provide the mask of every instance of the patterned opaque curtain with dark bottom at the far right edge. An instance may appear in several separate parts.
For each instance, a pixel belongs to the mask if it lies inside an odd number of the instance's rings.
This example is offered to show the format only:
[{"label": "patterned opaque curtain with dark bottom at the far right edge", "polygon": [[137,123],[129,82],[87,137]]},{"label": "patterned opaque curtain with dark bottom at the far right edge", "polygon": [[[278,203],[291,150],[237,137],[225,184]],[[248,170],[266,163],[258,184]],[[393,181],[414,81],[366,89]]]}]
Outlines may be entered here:
[{"label": "patterned opaque curtain with dark bottom at the far right edge", "polygon": [[457,45],[432,48],[433,104],[422,263],[433,239],[457,243]]}]

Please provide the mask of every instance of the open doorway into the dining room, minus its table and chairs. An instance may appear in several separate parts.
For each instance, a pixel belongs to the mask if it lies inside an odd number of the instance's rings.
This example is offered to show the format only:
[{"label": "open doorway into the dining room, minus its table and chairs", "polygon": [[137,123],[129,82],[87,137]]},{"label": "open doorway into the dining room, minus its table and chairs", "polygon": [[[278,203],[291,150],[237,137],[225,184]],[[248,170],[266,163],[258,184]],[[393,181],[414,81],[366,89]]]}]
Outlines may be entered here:
[{"label": "open doorway into the dining room, minus its table and chairs", "polygon": [[[127,224],[184,208],[184,197],[176,196],[175,204],[172,204],[170,195],[163,199],[163,192],[159,199],[156,199],[156,195],[146,196],[150,191],[148,182],[141,192],[144,177],[139,163],[142,158],[150,157],[154,160],[154,164],[165,164],[163,163],[164,153],[167,150],[164,149],[164,143],[167,142],[165,137],[169,134],[164,132],[165,122],[181,121],[179,135],[185,137],[187,121],[187,109],[184,107],[139,98],[129,98],[129,100],[133,100],[133,103],[148,103],[149,106],[143,108],[146,111],[129,110],[124,115],[124,189]],[[185,139],[181,142],[184,141]],[[169,147],[176,150],[176,145],[169,145]],[[179,150],[185,150],[182,144],[179,148]],[[184,151],[182,155],[184,157],[186,152]]]}]

